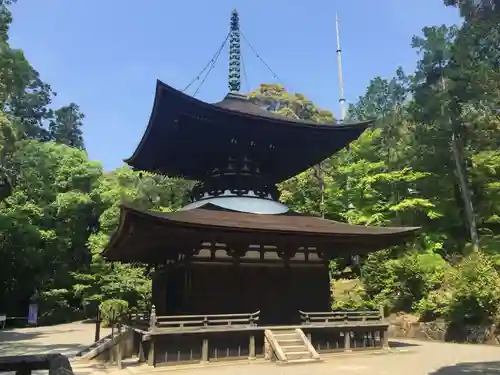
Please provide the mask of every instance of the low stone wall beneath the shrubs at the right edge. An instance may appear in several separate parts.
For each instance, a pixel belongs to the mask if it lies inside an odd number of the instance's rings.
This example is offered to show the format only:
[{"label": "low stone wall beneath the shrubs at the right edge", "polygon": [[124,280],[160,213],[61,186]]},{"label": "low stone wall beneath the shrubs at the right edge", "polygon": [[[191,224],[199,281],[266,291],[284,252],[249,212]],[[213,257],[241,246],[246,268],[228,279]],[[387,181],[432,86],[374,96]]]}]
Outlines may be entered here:
[{"label": "low stone wall beneath the shrubs at the right edge", "polygon": [[452,327],[443,321],[419,322],[414,316],[402,314],[387,319],[391,338],[500,345],[500,329],[495,325]]}]

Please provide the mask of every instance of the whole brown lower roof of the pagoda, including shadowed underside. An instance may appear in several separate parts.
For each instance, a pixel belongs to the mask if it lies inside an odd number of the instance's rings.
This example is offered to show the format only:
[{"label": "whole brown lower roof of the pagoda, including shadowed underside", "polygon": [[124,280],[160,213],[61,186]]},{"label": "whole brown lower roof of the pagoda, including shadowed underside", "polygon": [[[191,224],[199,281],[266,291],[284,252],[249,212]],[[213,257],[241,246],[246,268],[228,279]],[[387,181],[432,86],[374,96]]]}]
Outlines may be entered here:
[{"label": "whole brown lower roof of the pagoda, including shadowed underside", "polygon": [[277,215],[243,213],[211,204],[177,212],[144,211],[122,205],[120,225],[103,255],[108,260],[158,263],[209,242],[245,249],[250,245],[274,245],[281,251],[314,247],[333,258],[398,245],[417,230],[350,225],[291,211]]}]

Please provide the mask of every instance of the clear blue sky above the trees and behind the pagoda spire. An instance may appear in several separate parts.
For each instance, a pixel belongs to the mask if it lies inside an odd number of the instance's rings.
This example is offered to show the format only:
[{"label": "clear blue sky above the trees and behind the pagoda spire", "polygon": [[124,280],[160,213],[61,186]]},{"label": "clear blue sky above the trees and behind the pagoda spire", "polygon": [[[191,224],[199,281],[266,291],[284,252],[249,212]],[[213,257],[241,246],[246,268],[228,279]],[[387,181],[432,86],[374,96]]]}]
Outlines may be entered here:
[{"label": "clear blue sky above the trees and behind the pagoda spire", "polygon": [[[373,77],[414,69],[410,42],[422,27],[459,22],[441,0],[19,0],[11,43],[58,93],[54,105],[80,105],[89,156],[109,170],[138,144],[156,79],[182,89],[196,77],[225,38],[233,8],[287,89],[337,114],[335,12],[349,102]],[[245,43],[242,50],[242,89],[274,82]],[[226,90],[223,54],[197,97],[214,102]]]}]

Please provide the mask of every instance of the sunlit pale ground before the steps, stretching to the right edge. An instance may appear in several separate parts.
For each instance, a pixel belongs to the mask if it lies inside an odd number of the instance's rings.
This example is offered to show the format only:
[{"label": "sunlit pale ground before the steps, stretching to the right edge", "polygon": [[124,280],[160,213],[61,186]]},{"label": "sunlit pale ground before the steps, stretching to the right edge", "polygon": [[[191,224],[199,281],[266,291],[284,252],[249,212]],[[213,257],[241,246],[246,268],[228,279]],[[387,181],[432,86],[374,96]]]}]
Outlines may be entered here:
[{"label": "sunlit pale ground before the steps, stretching to the right edge", "polygon": [[500,347],[405,341],[389,354],[328,356],[322,363],[278,366],[274,363],[211,364],[181,372],[130,368],[134,375],[500,375]]}]

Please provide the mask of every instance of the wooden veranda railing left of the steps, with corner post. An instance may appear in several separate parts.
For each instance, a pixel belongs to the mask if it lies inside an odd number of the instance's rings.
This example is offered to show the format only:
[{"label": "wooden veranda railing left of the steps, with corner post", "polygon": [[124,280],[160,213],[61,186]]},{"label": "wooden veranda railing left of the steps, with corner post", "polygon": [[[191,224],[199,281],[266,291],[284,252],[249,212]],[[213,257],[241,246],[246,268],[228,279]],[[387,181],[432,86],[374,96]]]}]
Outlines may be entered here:
[{"label": "wooden veranda railing left of the steps, with corner post", "polygon": [[260,311],[243,314],[156,316],[153,307],[149,317],[149,330],[152,331],[158,328],[255,327],[259,321],[259,315]]}]

